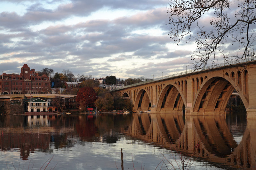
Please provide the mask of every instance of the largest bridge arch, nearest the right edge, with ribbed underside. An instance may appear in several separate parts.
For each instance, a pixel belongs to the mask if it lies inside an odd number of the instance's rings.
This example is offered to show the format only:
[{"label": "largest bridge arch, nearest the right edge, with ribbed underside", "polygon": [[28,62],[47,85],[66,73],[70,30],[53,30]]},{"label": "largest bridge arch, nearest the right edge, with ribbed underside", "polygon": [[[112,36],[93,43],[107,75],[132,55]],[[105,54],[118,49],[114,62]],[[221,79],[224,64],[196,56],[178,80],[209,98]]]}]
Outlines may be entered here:
[{"label": "largest bridge arch, nearest the right edge, with ribbed underside", "polygon": [[[231,77],[232,77],[231,72]],[[200,85],[199,90],[196,92],[195,100],[192,108],[194,113],[220,113],[225,114],[228,100],[234,91],[238,92],[244,106],[247,108],[249,102],[244,95],[242,85],[242,78],[248,78],[248,71],[237,71],[236,78],[229,78],[228,75],[214,74],[212,77],[208,77]]]}]

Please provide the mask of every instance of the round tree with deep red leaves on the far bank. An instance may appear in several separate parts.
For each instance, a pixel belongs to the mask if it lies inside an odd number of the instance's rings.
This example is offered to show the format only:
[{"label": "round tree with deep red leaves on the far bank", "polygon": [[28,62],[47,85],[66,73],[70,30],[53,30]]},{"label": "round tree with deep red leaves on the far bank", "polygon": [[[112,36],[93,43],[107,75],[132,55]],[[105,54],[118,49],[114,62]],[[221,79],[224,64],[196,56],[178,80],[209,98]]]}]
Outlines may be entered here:
[{"label": "round tree with deep red leaves on the far bank", "polygon": [[92,87],[82,87],[76,94],[76,102],[80,108],[94,107],[94,102],[97,99],[97,93]]}]

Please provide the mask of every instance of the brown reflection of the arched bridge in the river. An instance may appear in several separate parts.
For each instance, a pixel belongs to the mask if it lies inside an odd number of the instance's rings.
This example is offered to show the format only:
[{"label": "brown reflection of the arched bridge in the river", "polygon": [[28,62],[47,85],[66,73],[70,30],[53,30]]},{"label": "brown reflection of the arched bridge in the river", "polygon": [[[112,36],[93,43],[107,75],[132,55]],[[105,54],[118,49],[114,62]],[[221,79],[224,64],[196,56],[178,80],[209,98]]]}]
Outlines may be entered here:
[{"label": "brown reflection of the arched bridge in the river", "polygon": [[142,113],[133,114],[131,125],[122,132],[206,162],[247,169],[256,166],[255,125],[256,120],[247,119],[244,135],[236,143],[238,139],[232,136],[226,115]]}]

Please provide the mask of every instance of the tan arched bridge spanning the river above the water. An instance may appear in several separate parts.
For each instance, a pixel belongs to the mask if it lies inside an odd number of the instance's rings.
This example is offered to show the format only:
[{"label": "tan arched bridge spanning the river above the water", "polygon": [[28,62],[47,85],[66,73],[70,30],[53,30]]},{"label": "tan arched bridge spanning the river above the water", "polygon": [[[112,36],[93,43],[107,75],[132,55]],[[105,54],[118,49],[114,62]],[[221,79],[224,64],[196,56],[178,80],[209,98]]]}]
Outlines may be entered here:
[{"label": "tan arched bridge spanning the river above the water", "polygon": [[247,63],[220,64],[156,78],[111,93],[128,97],[134,111],[182,113],[185,107],[186,115],[224,115],[235,90],[244,103],[247,118],[256,119],[256,58]]}]

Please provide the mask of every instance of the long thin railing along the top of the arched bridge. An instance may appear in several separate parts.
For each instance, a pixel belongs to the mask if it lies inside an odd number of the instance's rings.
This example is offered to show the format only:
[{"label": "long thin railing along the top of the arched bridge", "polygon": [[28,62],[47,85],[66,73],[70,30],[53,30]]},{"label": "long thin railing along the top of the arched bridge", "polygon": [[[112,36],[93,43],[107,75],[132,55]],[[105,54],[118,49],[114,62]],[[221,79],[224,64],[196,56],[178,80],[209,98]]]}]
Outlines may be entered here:
[{"label": "long thin railing along the top of the arched bridge", "polygon": [[201,69],[183,71],[183,72],[172,74],[172,75],[169,75],[169,76],[150,79],[150,80],[143,81],[143,82],[140,82],[140,83],[135,83],[135,84],[132,84],[132,85],[122,86],[120,88],[110,90],[110,91],[112,92],[112,91],[116,91],[116,90],[120,90],[120,89],[124,89],[124,88],[128,88],[128,87],[133,87],[133,86],[136,86],[136,85],[142,85],[142,84],[146,84],[146,83],[150,83],[150,82],[154,82],[154,81],[158,81],[158,80],[163,80],[163,79],[167,79],[167,78],[177,77],[177,76],[181,76],[181,75],[185,75],[185,74],[189,74],[189,73],[200,72],[200,71],[203,71],[203,70],[211,70],[211,69],[215,69],[215,68],[219,68],[219,67],[224,67],[224,66],[234,65],[234,64],[240,64],[240,63],[245,63],[245,62],[250,62],[250,61],[256,61],[256,57],[250,57],[250,58],[247,59],[247,61],[245,59],[242,59],[242,60],[231,61],[229,63],[221,63],[221,64],[215,64],[215,65],[211,65],[211,66],[206,66],[206,67],[203,67]]}]

